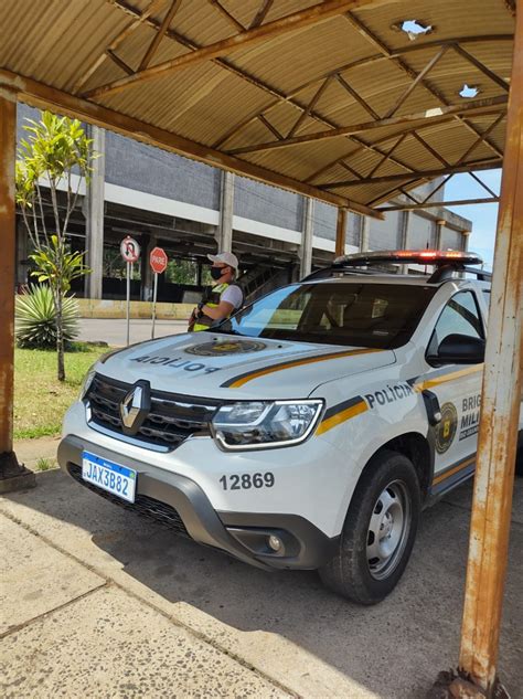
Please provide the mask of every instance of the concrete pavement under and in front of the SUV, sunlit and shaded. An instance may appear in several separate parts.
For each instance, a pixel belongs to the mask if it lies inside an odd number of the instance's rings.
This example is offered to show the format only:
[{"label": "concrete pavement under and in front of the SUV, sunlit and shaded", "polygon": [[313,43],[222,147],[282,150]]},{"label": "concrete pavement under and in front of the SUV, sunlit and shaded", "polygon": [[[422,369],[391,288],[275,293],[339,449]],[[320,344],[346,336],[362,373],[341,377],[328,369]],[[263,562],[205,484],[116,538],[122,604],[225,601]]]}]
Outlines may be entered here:
[{"label": "concrete pavement under and in front of the SUV, sunlit and shaded", "polygon": [[[382,604],[316,573],[265,573],[174,537],[58,470],[0,501],[3,696],[424,697],[456,665],[470,485],[424,513]],[[523,481],[516,481],[500,671],[523,697]]]}]

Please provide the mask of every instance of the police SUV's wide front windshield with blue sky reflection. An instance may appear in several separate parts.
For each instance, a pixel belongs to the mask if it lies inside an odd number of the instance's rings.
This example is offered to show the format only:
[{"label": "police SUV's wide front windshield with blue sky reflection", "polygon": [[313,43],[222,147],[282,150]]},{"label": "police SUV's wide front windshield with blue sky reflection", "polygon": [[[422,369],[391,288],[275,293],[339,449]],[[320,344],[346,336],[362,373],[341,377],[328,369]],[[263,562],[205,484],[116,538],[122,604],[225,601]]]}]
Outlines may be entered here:
[{"label": "police SUV's wide front windshield with blue sky reflection", "polygon": [[407,284],[296,284],[264,296],[213,332],[394,349],[410,339],[435,292]]}]

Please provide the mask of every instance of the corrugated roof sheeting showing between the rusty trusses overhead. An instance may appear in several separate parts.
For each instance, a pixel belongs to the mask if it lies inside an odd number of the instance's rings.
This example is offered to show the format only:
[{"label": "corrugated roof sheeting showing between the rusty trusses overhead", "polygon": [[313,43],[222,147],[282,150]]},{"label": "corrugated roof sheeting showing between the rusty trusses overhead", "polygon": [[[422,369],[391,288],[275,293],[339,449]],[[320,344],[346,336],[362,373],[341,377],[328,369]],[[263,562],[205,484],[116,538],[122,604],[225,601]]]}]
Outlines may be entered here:
[{"label": "corrugated roof sheeting showing between the rusty trusses overhead", "polygon": [[[125,70],[105,52],[124,30],[130,28],[116,54],[131,70],[137,70],[171,7],[169,0],[153,0],[150,18],[140,23],[140,13],[151,8],[150,2],[3,0],[0,6],[0,66],[71,94],[82,78],[82,93],[119,81],[125,77]],[[260,0],[222,0],[222,3],[246,30],[262,7]],[[264,23],[313,6],[319,6],[318,0],[279,0],[271,4]],[[398,29],[403,20],[418,20],[433,29],[425,35],[409,36]],[[182,0],[171,21],[169,35],[160,42],[150,65],[189,55],[193,51],[191,46],[209,47],[214,42],[231,39],[237,31],[235,21],[224,17],[207,0]],[[318,21],[305,29],[295,28],[275,38],[267,35],[256,44],[231,45],[226,55],[191,63],[152,80],[90,97],[90,100],[196,144],[220,144],[230,135],[223,146],[225,152],[288,137],[325,76],[338,72],[369,104],[369,109],[332,78],[313,106],[313,114],[301,119],[293,135],[307,137],[329,129],[330,125],[354,126],[371,121],[369,110],[383,118],[397,105],[445,41],[462,41],[462,49],[472,56],[472,62],[480,61],[506,81],[511,70],[513,31],[514,18],[502,0],[482,0],[472,4],[457,0],[439,0],[437,3],[375,0],[348,15]],[[245,35],[242,32],[238,42]],[[177,41],[177,36],[181,41]],[[395,115],[434,110],[445,103],[466,106],[467,100],[458,94],[465,83],[478,85],[478,98],[506,97],[506,89],[499,81],[450,49],[426,76],[426,85],[417,85]],[[280,104],[275,107],[278,95]],[[60,95],[53,95],[49,103],[56,105],[60,99]],[[265,112],[267,107],[269,109]],[[313,182],[321,184],[339,181],[340,171],[342,179],[350,179],[346,169],[337,165],[345,153],[351,168],[363,177],[369,176],[380,163],[381,153],[386,152],[403,131],[417,129],[439,158],[424,148],[418,139],[408,136],[394,153],[396,162],[387,160],[375,174],[385,177],[402,171],[398,162],[413,170],[437,169],[441,160],[459,161],[477,140],[477,133],[483,134],[497,114],[503,114],[504,109],[505,105],[492,106],[492,114],[463,114],[440,124],[398,121],[349,137],[239,153],[238,158],[267,168],[267,177],[273,181],[271,173],[295,181],[306,181],[316,173]],[[259,114],[279,136],[256,118]],[[480,144],[470,157],[498,157],[497,151],[501,152],[504,146],[504,119],[490,133],[489,141],[490,146]],[[195,152],[190,146],[189,150]],[[237,168],[241,170],[242,166]],[[380,192],[385,195],[392,188],[386,182],[371,183],[349,187],[345,193],[352,200],[370,202],[378,198]]]}]

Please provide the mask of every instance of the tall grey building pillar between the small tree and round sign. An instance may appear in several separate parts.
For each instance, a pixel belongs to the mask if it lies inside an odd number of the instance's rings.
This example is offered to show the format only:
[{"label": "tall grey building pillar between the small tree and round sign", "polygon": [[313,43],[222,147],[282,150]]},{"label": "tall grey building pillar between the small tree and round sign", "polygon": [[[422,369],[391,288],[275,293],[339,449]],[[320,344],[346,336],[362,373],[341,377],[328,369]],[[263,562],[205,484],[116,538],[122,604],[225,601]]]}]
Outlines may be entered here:
[{"label": "tall grey building pillar between the small tree and round sign", "polygon": [[86,298],[102,298],[104,275],[104,199],[105,199],[105,130],[90,127],[93,160],[90,180],[86,183],[84,201],[86,264],[92,273],[85,277]]}]

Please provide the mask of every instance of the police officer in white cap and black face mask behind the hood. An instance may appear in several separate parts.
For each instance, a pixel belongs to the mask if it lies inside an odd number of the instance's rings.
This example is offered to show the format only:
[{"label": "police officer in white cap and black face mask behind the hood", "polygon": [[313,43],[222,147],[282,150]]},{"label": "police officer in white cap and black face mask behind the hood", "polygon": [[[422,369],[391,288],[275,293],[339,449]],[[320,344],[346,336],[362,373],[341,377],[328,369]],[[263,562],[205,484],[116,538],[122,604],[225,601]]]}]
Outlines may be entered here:
[{"label": "police officer in white cap and black face mask behind the hood", "polygon": [[213,263],[211,276],[213,286],[202,297],[192,311],[189,320],[189,331],[206,330],[215,322],[228,318],[242,307],[244,295],[242,288],[234,284],[238,271],[238,258],[233,253],[207,255]]}]

